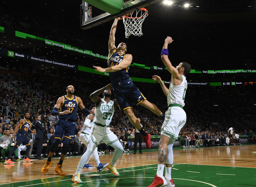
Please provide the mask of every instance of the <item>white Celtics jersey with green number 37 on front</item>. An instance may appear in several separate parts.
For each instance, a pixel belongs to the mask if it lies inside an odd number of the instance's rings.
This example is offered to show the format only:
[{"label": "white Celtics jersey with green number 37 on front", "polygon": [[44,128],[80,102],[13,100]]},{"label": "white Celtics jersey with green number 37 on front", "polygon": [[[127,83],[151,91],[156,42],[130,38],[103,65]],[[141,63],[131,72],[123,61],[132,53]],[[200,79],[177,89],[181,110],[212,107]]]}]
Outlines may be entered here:
[{"label": "white Celtics jersey with green number 37 on front", "polygon": [[107,103],[101,98],[100,104],[95,107],[95,123],[100,123],[102,125],[109,126],[112,116],[114,115],[114,101],[110,100]]}]

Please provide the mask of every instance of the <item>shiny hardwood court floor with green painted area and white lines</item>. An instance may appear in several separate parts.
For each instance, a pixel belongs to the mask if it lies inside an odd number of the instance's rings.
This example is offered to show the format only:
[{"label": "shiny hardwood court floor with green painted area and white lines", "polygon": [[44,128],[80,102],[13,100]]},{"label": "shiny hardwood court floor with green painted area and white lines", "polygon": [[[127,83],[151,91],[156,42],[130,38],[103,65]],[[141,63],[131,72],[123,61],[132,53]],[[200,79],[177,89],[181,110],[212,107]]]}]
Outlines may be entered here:
[{"label": "shiny hardwood court floor with green painted area and white lines", "polygon": [[[175,164],[172,177],[176,187],[256,186],[256,145],[190,148],[173,152]],[[33,163],[20,161],[15,165],[1,163],[0,186],[148,186],[156,174],[157,156],[156,150],[136,155],[122,154],[116,164],[120,176],[114,176],[108,169],[97,172],[95,162],[91,159],[89,163],[94,168],[82,170],[81,184],[71,181],[80,157],[67,157],[64,160],[65,176],[58,176],[54,172],[59,158],[52,159],[52,166],[47,173],[41,173],[45,160],[34,160]],[[110,154],[99,157],[103,163],[112,159]]]}]

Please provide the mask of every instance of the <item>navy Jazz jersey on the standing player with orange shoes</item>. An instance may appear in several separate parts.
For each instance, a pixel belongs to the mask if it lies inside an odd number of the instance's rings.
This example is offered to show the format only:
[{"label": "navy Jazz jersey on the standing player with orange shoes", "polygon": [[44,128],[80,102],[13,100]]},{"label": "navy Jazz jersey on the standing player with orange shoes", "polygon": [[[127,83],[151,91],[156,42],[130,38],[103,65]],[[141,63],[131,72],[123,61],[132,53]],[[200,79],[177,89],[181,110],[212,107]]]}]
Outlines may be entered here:
[{"label": "navy Jazz jersey on the standing player with orange shoes", "polygon": [[59,119],[68,119],[69,121],[76,121],[77,119],[77,96],[73,96],[72,99],[68,99],[66,95],[63,95],[63,103],[60,105],[60,111],[69,110],[70,113],[59,115]]}]

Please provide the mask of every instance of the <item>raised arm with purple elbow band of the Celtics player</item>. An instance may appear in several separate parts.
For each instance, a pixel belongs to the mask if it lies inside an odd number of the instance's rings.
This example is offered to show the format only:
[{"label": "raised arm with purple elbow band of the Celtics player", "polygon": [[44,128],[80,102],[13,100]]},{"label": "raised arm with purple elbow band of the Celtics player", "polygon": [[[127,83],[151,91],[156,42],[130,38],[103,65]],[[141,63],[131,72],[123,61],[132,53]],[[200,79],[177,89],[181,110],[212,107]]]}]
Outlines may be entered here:
[{"label": "raised arm with purple elbow band of the Celtics player", "polygon": [[172,65],[172,63],[170,62],[169,58],[168,58],[168,44],[172,43],[173,40],[171,37],[167,36],[167,38],[164,41],[164,46],[163,49],[161,51],[161,59],[164,63],[164,65],[166,66],[166,68],[168,69],[168,71],[172,74],[172,77],[174,79],[179,79],[180,74],[179,71]]}]

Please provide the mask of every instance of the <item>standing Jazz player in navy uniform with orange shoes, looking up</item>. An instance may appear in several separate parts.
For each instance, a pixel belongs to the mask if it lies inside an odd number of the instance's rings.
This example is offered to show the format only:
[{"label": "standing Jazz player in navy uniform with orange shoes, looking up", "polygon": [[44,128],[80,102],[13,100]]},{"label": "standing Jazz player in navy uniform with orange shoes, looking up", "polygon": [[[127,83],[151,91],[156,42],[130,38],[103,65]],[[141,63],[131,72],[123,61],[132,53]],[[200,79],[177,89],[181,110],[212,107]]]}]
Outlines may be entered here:
[{"label": "standing Jazz player in navy uniform with orange shoes, looking up", "polygon": [[[51,115],[59,115],[59,120],[56,123],[54,133],[55,138],[50,147],[49,157],[46,160],[44,167],[42,168],[43,173],[46,173],[51,166],[51,157],[54,155],[58,145],[60,144],[62,136],[64,135],[60,161],[57,163],[54,171],[57,172],[58,175],[65,175],[65,173],[62,171],[62,163],[67,154],[67,151],[69,150],[71,136],[74,134],[76,128],[77,107],[79,106],[86,114],[90,112],[87,108],[84,107],[82,99],[80,97],[74,96],[74,90],[74,86],[69,85],[66,88],[67,95],[59,97],[56,105],[51,111]],[[60,112],[58,112],[59,108]]]}]

